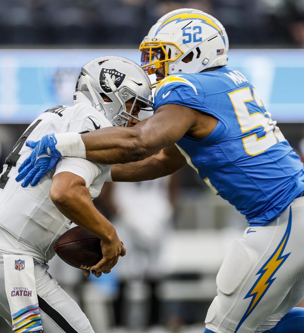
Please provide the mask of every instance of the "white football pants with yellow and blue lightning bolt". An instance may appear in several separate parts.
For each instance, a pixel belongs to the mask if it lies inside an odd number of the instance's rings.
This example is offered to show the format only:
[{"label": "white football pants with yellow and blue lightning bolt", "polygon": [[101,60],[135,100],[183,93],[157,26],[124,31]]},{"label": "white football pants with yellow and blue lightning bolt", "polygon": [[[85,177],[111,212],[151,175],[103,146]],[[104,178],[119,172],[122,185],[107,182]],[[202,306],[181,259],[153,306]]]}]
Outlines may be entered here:
[{"label": "white football pants with yellow and blue lightning bolt", "polygon": [[217,333],[265,332],[304,297],[304,197],[275,221],[248,227],[217,275],[206,327]]}]

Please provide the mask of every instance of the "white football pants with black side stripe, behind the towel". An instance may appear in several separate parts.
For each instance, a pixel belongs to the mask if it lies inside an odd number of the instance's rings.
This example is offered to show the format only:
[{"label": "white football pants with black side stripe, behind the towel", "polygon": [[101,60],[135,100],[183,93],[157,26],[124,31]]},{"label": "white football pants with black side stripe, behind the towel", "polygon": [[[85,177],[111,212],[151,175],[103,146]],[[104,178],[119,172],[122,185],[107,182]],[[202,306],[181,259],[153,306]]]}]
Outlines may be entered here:
[{"label": "white football pants with black side stripe, behind the towel", "polygon": [[[3,254],[0,252],[0,316],[11,325],[4,285]],[[77,303],[58,286],[47,269],[48,265],[38,263],[34,268],[43,333],[94,333]]]}]

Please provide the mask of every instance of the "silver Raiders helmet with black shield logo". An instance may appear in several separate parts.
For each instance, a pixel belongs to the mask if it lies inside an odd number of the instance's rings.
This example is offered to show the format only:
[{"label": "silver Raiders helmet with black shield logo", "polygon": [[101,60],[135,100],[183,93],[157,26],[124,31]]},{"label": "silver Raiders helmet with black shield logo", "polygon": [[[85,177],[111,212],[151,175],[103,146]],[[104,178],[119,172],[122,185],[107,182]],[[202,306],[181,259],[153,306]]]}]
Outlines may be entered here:
[{"label": "silver Raiders helmet with black shield logo", "polygon": [[[151,83],[146,73],[133,61],[123,57],[105,56],[85,64],[79,74],[74,104],[88,103],[104,113],[114,126],[127,124],[136,101],[142,110],[153,109]],[[129,112],[125,102],[134,98]]]}]

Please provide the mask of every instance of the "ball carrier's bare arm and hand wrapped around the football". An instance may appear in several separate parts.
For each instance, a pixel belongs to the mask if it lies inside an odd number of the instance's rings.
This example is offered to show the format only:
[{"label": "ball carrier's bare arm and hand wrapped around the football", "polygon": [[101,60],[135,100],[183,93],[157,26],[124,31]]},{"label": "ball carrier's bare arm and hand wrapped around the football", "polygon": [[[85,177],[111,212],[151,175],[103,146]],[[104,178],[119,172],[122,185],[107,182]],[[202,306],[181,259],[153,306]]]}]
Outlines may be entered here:
[{"label": "ball carrier's bare arm and hand wrapped around the football", "polygon": [[60,172],[53,177],[50,198],[57,209],[77,225],[101,239],[103,258],[91,270],[108,273],[125,255],[115,228],[94,207],[85,180],[71,172]]}]

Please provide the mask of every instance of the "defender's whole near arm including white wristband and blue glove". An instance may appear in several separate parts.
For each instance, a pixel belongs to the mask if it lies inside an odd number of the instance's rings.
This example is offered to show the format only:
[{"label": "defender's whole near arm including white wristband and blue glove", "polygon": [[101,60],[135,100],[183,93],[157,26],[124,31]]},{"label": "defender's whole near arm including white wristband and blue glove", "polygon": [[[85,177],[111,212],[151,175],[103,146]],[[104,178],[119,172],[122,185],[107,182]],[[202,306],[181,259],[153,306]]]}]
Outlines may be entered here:
[{"label": "defender's whole near arm including white wristband and blue glove", "polygon": [[195,109],[166,104],[152,117],[132,128],[108,127],[86,134],[48,134],[37,142],[19,167],[17,181],[35,186],[61,156],[80,157],[101,164],[125,164],[152,156],[178,142],[185,133],[206,138],[216,127],[217,119]]}]

